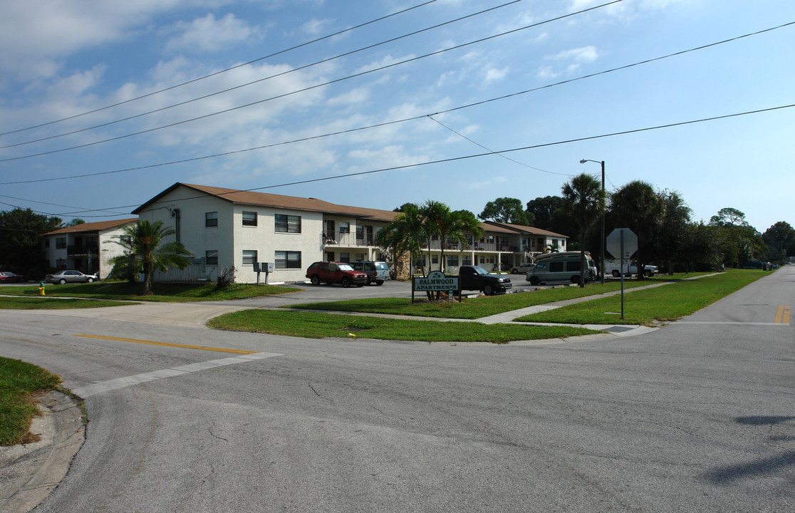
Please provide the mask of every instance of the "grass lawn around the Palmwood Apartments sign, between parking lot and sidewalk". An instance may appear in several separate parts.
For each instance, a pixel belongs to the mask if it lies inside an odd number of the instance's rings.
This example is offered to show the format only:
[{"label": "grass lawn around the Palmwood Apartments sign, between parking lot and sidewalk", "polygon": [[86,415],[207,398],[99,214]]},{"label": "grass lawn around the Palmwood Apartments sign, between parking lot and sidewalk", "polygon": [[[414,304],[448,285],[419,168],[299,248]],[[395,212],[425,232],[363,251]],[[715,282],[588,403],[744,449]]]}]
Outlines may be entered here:
[{"label": "grass lawn around the Palmwood Apartments sign, between parking lot and sidewalk", "polygon": [[[689,277],[697,274],[688,274]],[[646,286],[652,283],[671,282],[681,280],[684,274],[673,276],[661,275],[649,280],[625,280],[624,289]],[[521,278],[521,277],[520,277]],[[523,278],[522,278],[523,279]],[[621,290],[621,282],[591,283],[584,288],[579,286],[564,286],[555,289],[542,289],[532,292],[510,293],[491,297],[474,297],[462,302],[450,301],[429,303],[425,301],[424,294],[418,294],[419,302],[411,304],[409,298],[375,297],[370,299],[355,299],[349,301],[332,301],[328,303],[306,303],[291,305],[284,308],[310,309],[310,310],[335,310],[338,312],[366,312],[366,313],[394,313],[397,315],[416,317],[440,317],[444,319],[479,319],[497,313],[510,312],[527,306],[545,305],[555,301],[575,299],[577,297],[593,296],[606,292]]]}]

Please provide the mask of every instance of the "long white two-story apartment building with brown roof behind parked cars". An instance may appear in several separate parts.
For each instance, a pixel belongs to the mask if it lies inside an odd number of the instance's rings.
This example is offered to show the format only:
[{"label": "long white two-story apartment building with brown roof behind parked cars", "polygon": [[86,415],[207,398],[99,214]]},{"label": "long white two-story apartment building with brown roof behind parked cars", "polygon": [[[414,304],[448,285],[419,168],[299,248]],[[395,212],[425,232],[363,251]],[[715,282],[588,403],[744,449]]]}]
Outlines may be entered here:
[{"label": "long white two-story apartment building with brown roof behind parked cars", "polygon": [[[261,262],[273,264],[270,283],[304,281],[306,268],[318,260],[389,262],[391,257],[375,245],[375,234],[397,216],[315,198],[181,183],[133,213],[173,227],[174,238],[193,255],[188,270],[172,270],[156,279],[215,281],[219,271],[234,266],[236,281],[246,283],[266,279],[264,271],[257,271]],[[485,235],[479,240],[445,244],[447,266],[474,263],[491,270],[501,263],[510,267],[526,262],[553,244],[565,250],[564,235],[505,223],[482,226]],[[439,269],[441,242],[432,241],[430,250],[430,268]]]}]

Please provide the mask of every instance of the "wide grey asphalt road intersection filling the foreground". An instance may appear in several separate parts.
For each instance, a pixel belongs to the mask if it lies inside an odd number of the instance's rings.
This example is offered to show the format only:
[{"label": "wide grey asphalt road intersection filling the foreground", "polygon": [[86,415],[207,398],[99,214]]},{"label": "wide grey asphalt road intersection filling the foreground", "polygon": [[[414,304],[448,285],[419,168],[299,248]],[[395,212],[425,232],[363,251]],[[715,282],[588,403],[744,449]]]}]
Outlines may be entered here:
[{"label": "wide grey asphalt road intersection filling the foreground", "polygon": [[0,354],[62,375],[90,418],[36,511],[795,511],[793,282],[568,344],[0,311]]}]

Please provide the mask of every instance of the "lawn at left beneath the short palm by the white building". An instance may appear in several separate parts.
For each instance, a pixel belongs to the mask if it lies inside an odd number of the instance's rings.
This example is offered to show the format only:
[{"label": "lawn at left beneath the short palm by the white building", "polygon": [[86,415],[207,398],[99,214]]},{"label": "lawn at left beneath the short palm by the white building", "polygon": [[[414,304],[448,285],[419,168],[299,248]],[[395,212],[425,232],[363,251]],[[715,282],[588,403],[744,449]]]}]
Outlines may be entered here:
[{"label": "lawn at left beneath the short palm by the white building", "polygon": [[[85,297],[91,299],[116,299],[126,301],[224,301],[246,297],[267,296],[298,292],[300,289],[275,285],[232,283],[226,289],[215,288],[215,283],[155,283],[152,296],[139,296],[140,283],[95,282],[73,285],[45,286],[45,294],[52,297]],[[0,294],[14,296],[38,296],[38,286],[0,286]],[[77,308],[77,307],[75,307]]]}]

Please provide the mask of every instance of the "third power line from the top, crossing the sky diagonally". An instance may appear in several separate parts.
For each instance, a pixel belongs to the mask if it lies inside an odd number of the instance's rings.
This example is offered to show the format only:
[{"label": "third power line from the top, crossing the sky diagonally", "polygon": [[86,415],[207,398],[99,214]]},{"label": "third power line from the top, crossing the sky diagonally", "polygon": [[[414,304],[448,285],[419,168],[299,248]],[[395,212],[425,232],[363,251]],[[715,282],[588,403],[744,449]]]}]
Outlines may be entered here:
[{"label": "third power line from the top, crossing the sky diagonally", "polygon": [[281,94],[281,95],[272,96],[270,98],[261,99],[261,100],[258,100],[256,102],[246,103],[244,105],[238,105],[238,107],[231,107],[231,108],[228,108],[228,109],[224,109],[223,111],[216,111],[216,112],[212,112],[212,113],[207,114],[207,115],[197,116],[196,118],[184,119],[184,120],[179,121],[179,122],[169,123],[168,125],[156,126],[154,128],[149,128],[147,130],[141,130],[141,131],[138,131],[138,132],[134,132],[132,134],[119,135],[117,137],[107,138],[107,139],[103,139],[101,141],[87,142],[85,144],[81,144],[81,145],[78,145],[78,146],[70,146],[68,148],[61,148],[60,150],[50,150],[50,151],[40,152],[40,153],[37,153],[37,154],[22,155],[20,157],[3,158],[3,159],[0,159],[0,162],[18,161],[18,160],[22,160],[22,159],[25,159],[25,158],[41,157],[43,155],[57,154],[57,153],[61,153],[61,152],[64,152],[64,151],[69,151],[69,150],[78,150],[80,148],[87,148],[89,146],[96,146],[96,145],[99,145],[99,144],[103,144],[105,142],[118,141],[120,139],[134,137],[136,135],[149,134],[149,133],[157,131],[157,130],[163,130],[164,128],[171,128],[173,126],[183,125],[184,123],[199,121],[200,119],[211,118],[212,116],[215,116],[215,115],[227,114],[228,112],[238,111],[239,109],[242,109],[242,108],[253,107],[254,105],[258,105],[260,103],[266,103],[266,102],[269,102],[269,101],[271,101],[273,99],[285,98],[287,96],[295,95],[297,93],[301,93],[301,92],[305,92],[305,91],[311,91],[312,89],[317,89],[319,87],[325,87],[325,86],[328,86],[328,85],[332,85],[332,84],[337,84],[339,82],[343,82],[345,80],[351,80],[351,79],[357,78],[359,76],[365,76],[365,75],[368,75],[370,73],[379,72],[379,71],[382,71],[384,69],[394,68],[395,66],[399,66],[401,64],[407,64],[409,62],[414,62],[416,60],[425,59],[425,58],[430,57],[430,56],[440,55],[440,54],[442,54],[444,52],[450,52],[452,50],[461,49],[461,48],[464,48],[464,47],[467,47],[467,46],[471,46],[471,45],[476,45],[478,43],[482,43],[483,41],[490,41],[490,40],[496,39],[498,37],[507,36],[507,35],[510,35],[512,33],[517,33],[517,32],[520,32],[520,31],[526,30],[526,29],[531,29],[531,28],[537,27],[539,25],[545,25],[545,24],[551,23],[553,21],[559,21],[559,20],[562,20],[562,19],[567,18],[567,17],[576,16],[577,14],[583,14],[583,13],[586,13],[588,11],[600,9],[602,7],[610,6],[612,4],[619,3],[619,2],[622,2],[622,1],[623,0],[613,0],[612,2],[607,2],[607,3],[601,4],[599,6],[589,7],[588,9],[579,10],[579,11],[576,11],[574,13],[564,14],[562,16],[554,17],[554,18],[551,18],[549,20],[539,21],[537,23],[533,23],[533,24],[530,24],[530,25],[525,25],[525,26],[522,26],[522,27],[520,27],[518,29],[508,30],[508,31],[503,32],[503,33],[498,33],[498,34],[494,34],[492,36],[483,37],[483,38],[475,40],[475,41],[469,41],[469,42],[463,43],[461,45],[455,45],[455,46],[449,47],[447,49],[441,49],[441,50],[437,50],[436,52],[426,53],[425,55],[421,55],[421,56],[417,56],[417,57],[411,57],[409,59],[401,60],[401,61],[398,61],[398,62],[395,62],[395,63],[392,63],[392,64],[386,64],[384,66],[380,66],[378,68],[373,68],[373,69],[370,69],[370,70],[366,70],[364,72],[359,72],[359,73],[355,73],[353,75],[343,76],[343,77],[341,77],[339,79],[329,80],[328,82],[324,82],[324,83],[321,83],[321,84],[315,84],[313,86],[304,87],[304,88],[298,89],[296,91],[291,91],[291,92],[284,93],[284,94]]}]

